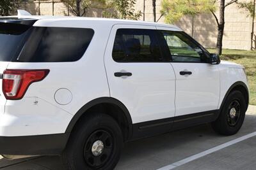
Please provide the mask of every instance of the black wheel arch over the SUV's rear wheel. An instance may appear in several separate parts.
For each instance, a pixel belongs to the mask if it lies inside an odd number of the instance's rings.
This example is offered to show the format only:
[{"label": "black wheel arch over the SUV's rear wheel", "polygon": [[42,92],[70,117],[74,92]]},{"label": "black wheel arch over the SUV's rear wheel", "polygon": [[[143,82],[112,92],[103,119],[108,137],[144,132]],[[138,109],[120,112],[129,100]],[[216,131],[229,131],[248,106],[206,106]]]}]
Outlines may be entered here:
[{"label": "black wheel arch over the SUV's rear wheel", "polygon": [[[125,105],[113,97],[100,97],[93,99],[92,101],[84,104],[82,108],[74,115],[68,127],[66,133],[71,133],[76,124],[83,117],[93,114],[93,112],[106,113],[113,117],[124,134],[124,141],[131,138],[132,136],[132,119],[129,111]],[[111,113],[114,112],[114,113]]]}]

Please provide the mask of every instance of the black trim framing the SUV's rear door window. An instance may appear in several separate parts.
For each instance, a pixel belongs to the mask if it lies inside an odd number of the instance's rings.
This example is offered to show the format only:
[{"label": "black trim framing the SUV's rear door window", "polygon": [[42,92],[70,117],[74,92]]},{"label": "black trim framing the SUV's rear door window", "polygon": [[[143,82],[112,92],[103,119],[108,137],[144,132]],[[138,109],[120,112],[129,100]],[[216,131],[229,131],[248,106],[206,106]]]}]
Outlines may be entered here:
[{"label": "black trim framing the SUV's rear door window", "polygon": [[159,46],[161,57],[163,58],[162,61],[116,61],[113,58],[113,49],[114,49],[114,43],[115,43],[115,38],[116,38],[116,32],[118,30],[120,30],[120,29],[136,29],[136,30],[141,30],[141,28],[118,28],[118,29],[116,29],[115,36],[114,36],[114,42],[113,42],[113,46],[112,46],[112,51],[111,51],[111,57],[112,57],[112,60],[114,62],[116,62],[116,63],[170,63],[170,60],[168,60],[166,55],[163,54],[164,51],[163,51],[162,46],[161,46],[161,41],[159,39],[159,32],[157,31],[157,29],[144,29],[144,30],[149,30],[149,31],[153,31],[154,32],[154,36],[155,36],[157,44]]}]

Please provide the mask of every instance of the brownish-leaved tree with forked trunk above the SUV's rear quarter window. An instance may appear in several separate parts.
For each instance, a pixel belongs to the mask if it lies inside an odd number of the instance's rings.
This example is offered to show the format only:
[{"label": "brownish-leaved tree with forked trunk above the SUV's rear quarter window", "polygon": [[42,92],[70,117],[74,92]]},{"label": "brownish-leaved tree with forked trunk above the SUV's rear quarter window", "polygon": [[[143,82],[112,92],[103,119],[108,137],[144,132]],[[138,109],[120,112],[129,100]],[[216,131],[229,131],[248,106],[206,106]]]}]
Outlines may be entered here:
[{"label": "brownish-leaved tree with forked trunk above the SUV's rear quarter window", "polygon": [[106,8],[106,0],[62,0],[77,17],[85,16],[90,8]]}]

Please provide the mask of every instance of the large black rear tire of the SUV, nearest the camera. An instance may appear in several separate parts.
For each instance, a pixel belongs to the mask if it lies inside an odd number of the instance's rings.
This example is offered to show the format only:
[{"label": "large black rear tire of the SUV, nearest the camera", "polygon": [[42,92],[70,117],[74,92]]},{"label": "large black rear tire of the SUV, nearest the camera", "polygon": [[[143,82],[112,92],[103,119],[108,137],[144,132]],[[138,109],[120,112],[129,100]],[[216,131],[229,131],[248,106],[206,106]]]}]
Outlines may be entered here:
[{"label": "large black rear tire of the SUV, nearest the camera", "polygon": [[[92,152],[95,141],[104,144],[97,156]],[[105,114],[93,114],[79,121],[61,157],[67,169],[111,170],[120,159],[122,145],[122,131],[116,121]]]}]

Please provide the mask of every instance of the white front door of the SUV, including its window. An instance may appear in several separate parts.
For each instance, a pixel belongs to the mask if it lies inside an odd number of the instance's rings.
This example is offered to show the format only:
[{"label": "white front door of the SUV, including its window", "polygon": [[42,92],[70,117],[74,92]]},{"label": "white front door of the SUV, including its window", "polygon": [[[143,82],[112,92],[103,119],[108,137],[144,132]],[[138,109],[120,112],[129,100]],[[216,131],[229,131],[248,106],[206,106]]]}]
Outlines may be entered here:
[{"label": "white front door of the SUV, including its window", "polygon": [[218,108],[220,71],[218,65],[207,63],[204,48],[181,31],[157,27],[165,40],[176,75],[175,116],[204,113]]}]

